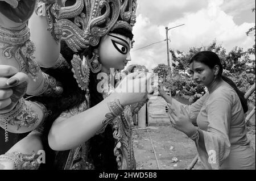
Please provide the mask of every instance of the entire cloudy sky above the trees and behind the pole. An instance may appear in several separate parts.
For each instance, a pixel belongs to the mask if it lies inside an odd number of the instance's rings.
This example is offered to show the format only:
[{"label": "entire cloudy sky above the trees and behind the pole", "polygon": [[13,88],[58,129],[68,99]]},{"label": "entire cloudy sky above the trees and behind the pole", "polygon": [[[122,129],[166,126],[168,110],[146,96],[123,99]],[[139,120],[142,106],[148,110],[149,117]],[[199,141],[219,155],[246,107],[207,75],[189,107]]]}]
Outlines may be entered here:
[{"label": "entire cloudy sky above the trees and behind the pole", "polygon": [[[236,46],[246,50],[255,43],[253,35],[246,36],[247,30],[255,26],[255,12],[251,11],[255,0],[137,0],[137,3],[135,43],[129,65],[145,65],[150,71],[158,64],[167,65],[166,26],[185,24],[168,31],[173,50],[187,52],[190,47],[207,46],[214,40],[227,51]],[[147,45],[150,46],[140,49]]]}]

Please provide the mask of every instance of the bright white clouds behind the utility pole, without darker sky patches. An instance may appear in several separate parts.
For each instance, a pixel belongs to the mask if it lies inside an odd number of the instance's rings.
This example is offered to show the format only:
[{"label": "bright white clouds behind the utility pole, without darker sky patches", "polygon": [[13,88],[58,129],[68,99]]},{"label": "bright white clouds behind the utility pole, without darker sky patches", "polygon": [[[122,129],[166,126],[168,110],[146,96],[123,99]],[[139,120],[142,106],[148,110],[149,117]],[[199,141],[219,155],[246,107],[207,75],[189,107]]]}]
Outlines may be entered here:
[{"label": "bright white clouds behind the utility pole, without darker sky patches", "polygon": [[[158,64],[167,64],[166,41],[163,41],[166,39],[166,23],[165,20],[159,20],[158,23],[155,23],[156,19],[163,16],[162,11],[154,13],[154,16],[158,17],[150,18],[152,15],[147,16],[150,14],[150,9],[147,13],[142,13],[144,10],[141,11],[145,1],[140,0],[138,2],[140,2],[140,8],[137,11],[137,24],[134,27],[135,51],[131,52],[132,63],[145,65],[148,69],[152,69]],[[156,1],[147,0],[147,2],[145,6],[150,5],[150,2],[155,5]],[[226,2],[224,0],[208,0],[205,2],[207,2],[207,6],[202,6],[201,9],[195,12],[185,11],[187,5],[179,5],[180,9],[184,9],[184,11],[178,18],[170,20],[167,24],[168,27],[174,27],[185,23],[185,26],[174,28],[168,32],[171,39],[170,48],[187,51],[190,47],[209,45],[213,40],[216,40],[218,44],[222,44],[227,50],[235,46],[247,49],[254,44],[254,36],[248,37],[245,32],[253,27],[255,23],[246,23],[244,21],[242,24],[237,25],[233,16],[223,10]],[[177,4],[176,0],[168,0],[166,6],[174,7],[178,6]],[[228,5],[226,6],[228,7]],[[168,9],[168,7],[163,8],[163,14],[165,9]],[[158,41],[163,42],[136,51],[138,48]]]}]

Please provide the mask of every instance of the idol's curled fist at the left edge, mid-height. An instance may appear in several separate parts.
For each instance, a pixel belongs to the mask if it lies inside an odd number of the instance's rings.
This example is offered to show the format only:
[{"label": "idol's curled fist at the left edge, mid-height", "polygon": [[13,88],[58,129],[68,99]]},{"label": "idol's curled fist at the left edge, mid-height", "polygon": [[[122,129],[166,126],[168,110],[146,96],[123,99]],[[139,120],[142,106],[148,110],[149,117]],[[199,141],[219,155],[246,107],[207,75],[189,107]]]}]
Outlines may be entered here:
[{"label": "idol's curled fist at the left edge, mid-height", "polygon": [[0,65],[0,113],[13,110],[26,94],[28,76],[13,66]]}]

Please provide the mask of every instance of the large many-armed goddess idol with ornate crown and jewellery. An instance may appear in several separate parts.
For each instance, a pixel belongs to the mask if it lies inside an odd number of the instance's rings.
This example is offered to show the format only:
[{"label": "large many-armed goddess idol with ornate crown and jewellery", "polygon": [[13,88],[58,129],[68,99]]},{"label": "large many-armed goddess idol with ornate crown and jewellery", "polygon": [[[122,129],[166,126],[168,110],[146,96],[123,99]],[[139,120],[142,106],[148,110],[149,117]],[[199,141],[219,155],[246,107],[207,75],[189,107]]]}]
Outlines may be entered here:
[{"label": "large many-armed goddess idol with ornate crown and jewellery", "polygon": [[[146,99],[150,75],[140,80],[139,73],[127,75],[118,87],[107,89],[115,92],[102,91],[102,81],[109,80],[101,78],[110,68],[121,71],[130,61],[136,1],[42,0],[30,18],[34,5],[35,1],[14,0],[0,8],[0,166],[37,169],[35,153],[45,150],[45,169],[135,169],[131,114]],[[6,16],[8,10],[14,17]],[[125,93],[123,88],[134,81],[141,81],[145,91]],[[12,121],[13,113],[15,120],[24,113],[33,115],[36,124],[30,117]]]}]

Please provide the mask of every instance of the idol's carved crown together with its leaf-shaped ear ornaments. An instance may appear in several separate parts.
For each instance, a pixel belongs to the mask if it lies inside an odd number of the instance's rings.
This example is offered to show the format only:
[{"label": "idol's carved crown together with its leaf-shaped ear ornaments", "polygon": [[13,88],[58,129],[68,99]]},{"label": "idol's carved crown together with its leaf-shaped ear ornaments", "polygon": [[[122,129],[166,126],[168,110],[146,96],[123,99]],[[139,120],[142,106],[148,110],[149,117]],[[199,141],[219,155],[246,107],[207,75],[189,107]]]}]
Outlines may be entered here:
[{"label": "idol's carved crown together with its leaf-shaped ear ornaments", "polygon": [[[110,31],[122,28],[131,32],[136,9],[137,0],[39,0],[36,14],[47,17],[48,30],[56,40],[65,41],[73,52],[78,52],[97,46]],[[71,63],[79,87],[86,90],[89,71],[101,70],[97,52],[83,60],[75,54]]]}]

